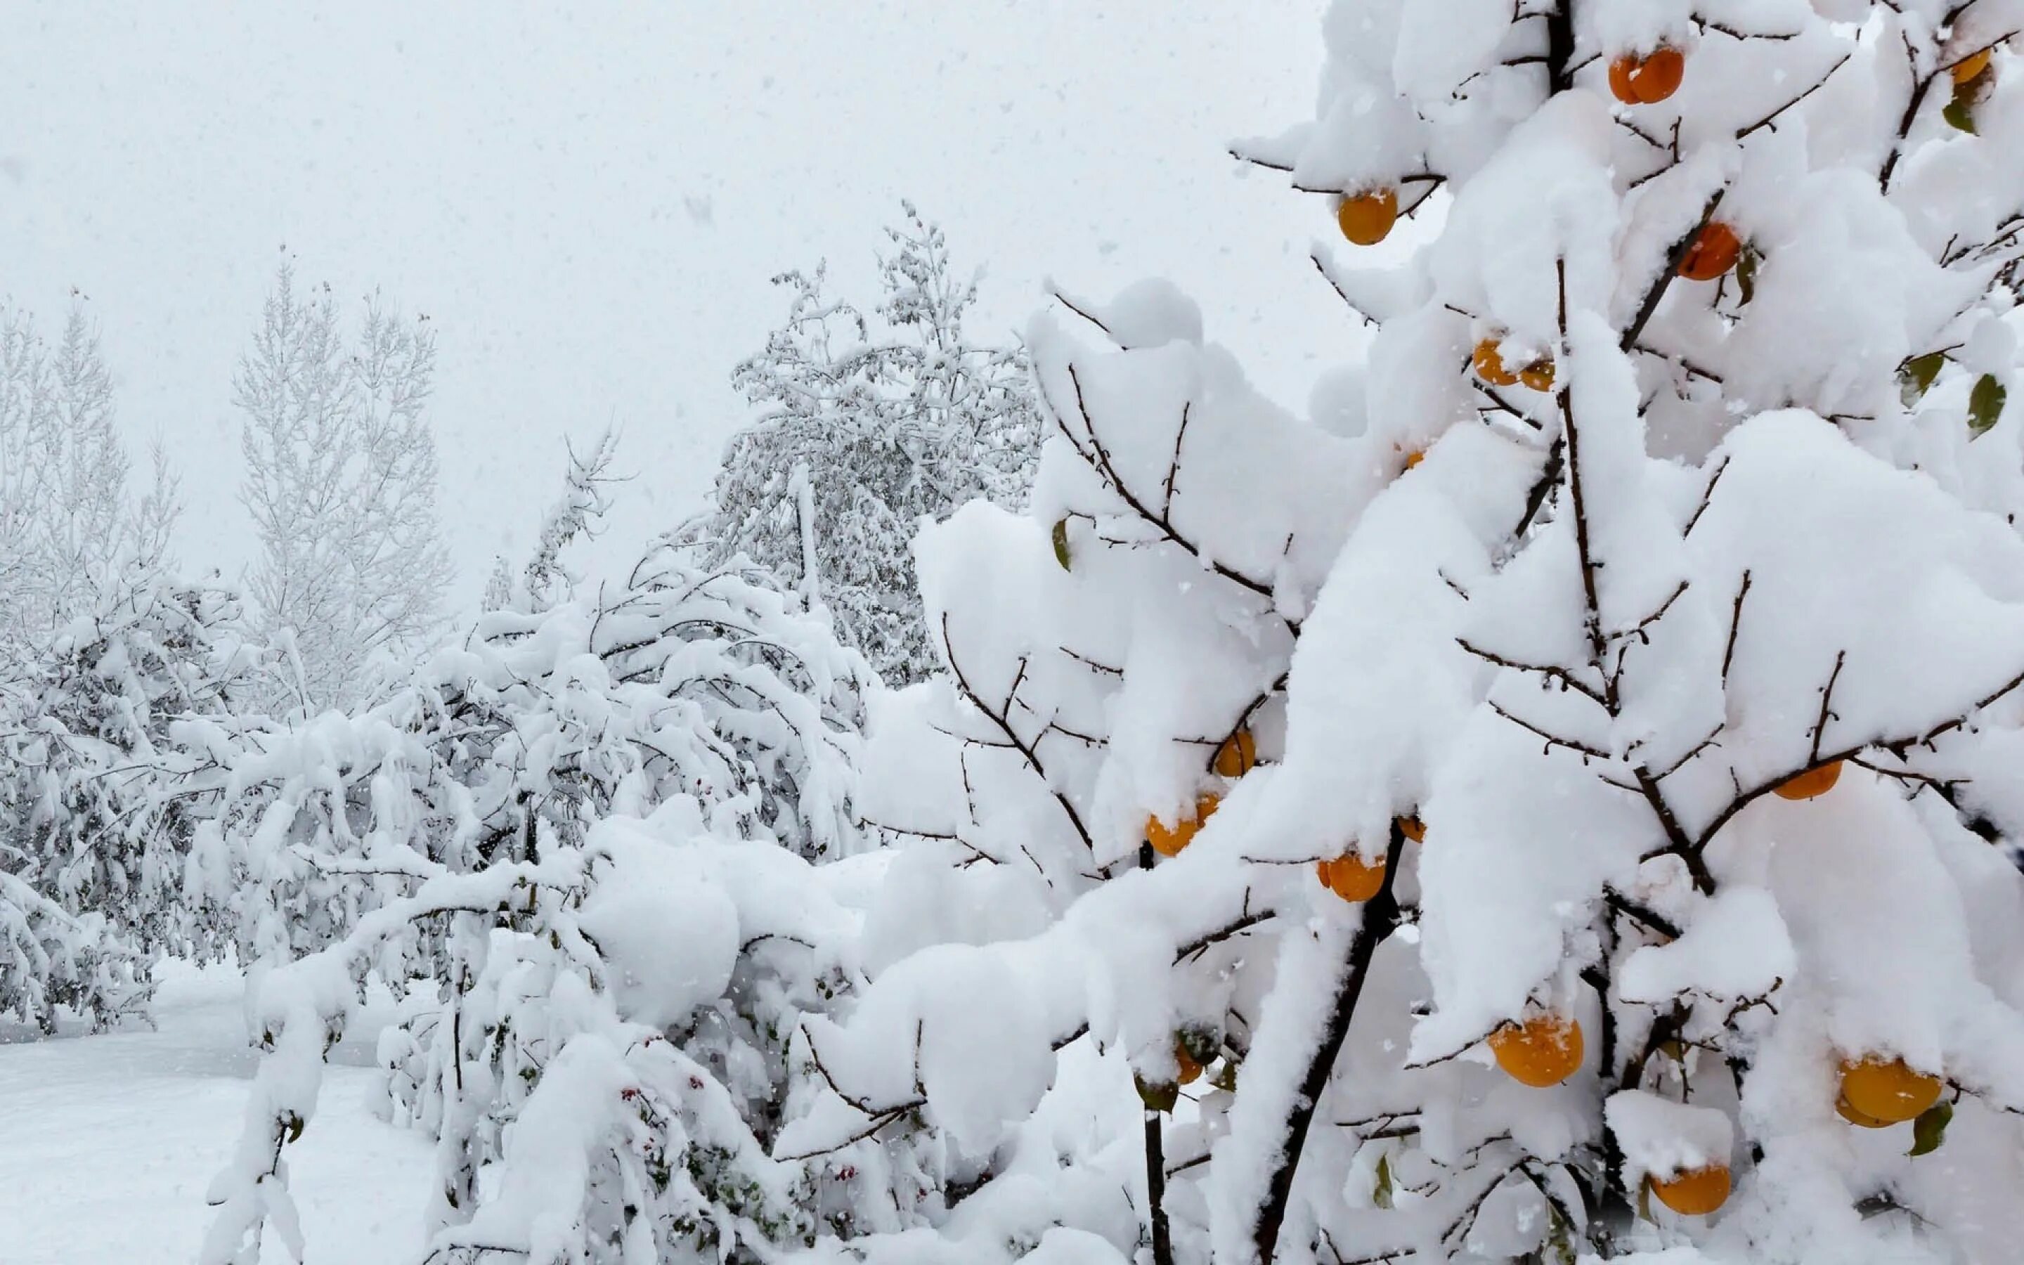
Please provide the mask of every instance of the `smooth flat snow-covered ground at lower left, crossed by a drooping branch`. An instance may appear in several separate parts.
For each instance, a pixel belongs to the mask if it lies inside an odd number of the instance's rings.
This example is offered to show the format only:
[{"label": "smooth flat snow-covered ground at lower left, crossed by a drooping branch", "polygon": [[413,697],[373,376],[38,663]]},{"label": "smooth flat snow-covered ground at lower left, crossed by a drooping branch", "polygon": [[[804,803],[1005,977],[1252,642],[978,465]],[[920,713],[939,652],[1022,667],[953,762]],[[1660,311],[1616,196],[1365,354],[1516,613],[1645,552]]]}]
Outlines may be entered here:
[{"label": "smooth flat snow-covered ground at lower left, crossed by a drooping branch", "polygon": [[[0,1044],[0,1265],[188,1265],[229,1154],[255,1052],[239,976],[168,963],[158,1032]],[[352,1038],[291,1148],[314,1265],[387,1265],[421,1241],[429,1146],[385,1125],[370,1040]],[[267,1243],[263,1261],[285,1261]]]}]

